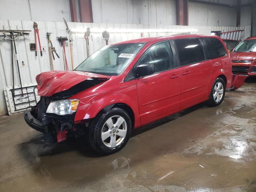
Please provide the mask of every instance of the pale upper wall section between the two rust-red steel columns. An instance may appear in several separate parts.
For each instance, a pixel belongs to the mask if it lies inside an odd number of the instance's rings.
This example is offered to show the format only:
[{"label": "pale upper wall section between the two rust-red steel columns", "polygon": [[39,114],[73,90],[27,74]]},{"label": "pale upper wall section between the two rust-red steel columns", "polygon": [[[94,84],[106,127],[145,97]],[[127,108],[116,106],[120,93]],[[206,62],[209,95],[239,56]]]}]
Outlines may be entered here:
[{"label": "pale upper wall section between the two rust-red steel columns", "polygon": [[93,0],[95,23],[176,24],[176,0]]}]

